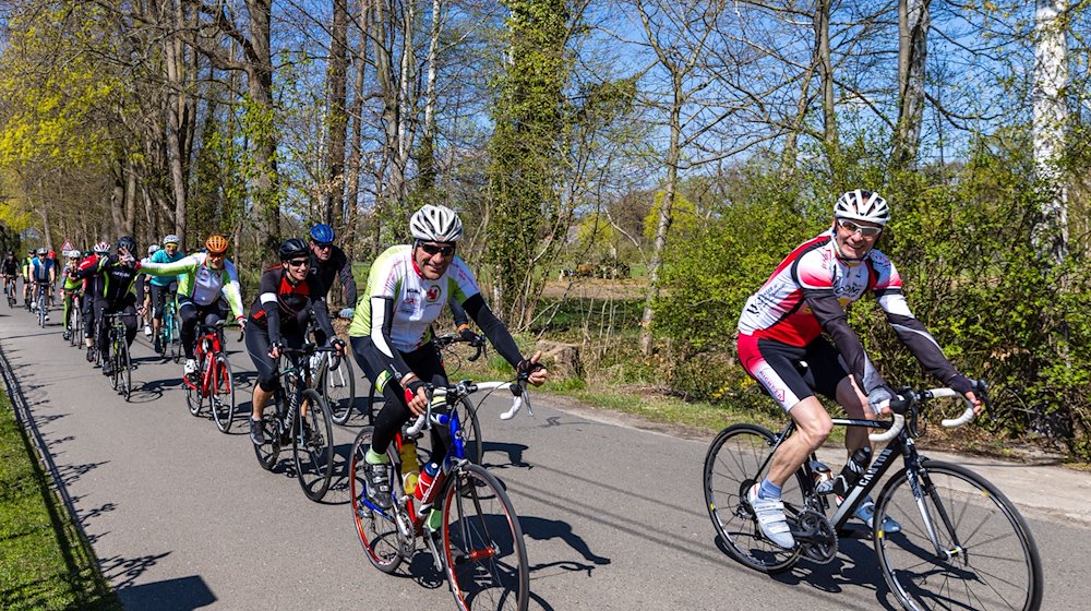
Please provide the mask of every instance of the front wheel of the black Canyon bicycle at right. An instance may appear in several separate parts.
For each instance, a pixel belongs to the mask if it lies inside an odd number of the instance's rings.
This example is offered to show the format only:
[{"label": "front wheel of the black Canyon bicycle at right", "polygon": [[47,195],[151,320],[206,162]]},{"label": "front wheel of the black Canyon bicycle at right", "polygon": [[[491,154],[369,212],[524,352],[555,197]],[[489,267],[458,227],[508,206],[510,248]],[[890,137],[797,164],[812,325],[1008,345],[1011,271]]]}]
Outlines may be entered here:
[{"label": "front wheel of the black Canyon bicycle at right", "polygon": [[[902,469],[875,503],[876,524],[886,516],[901,524],[899,532],[878,529],[873,537],[883,577],[898,602],[914,611],[1040,609],[1042,560],[1015,505],[970,469],[927,458],[921,465],[918,482]],[[922,492],[920,502],[914,488]],[[936,552],[925,514],[939,544],[948,552],[960,550],[950,560]]]}]

